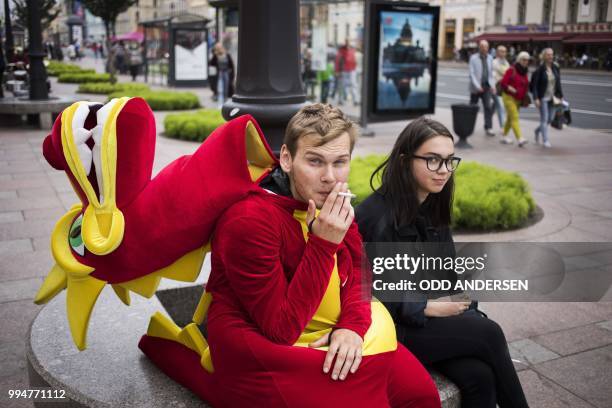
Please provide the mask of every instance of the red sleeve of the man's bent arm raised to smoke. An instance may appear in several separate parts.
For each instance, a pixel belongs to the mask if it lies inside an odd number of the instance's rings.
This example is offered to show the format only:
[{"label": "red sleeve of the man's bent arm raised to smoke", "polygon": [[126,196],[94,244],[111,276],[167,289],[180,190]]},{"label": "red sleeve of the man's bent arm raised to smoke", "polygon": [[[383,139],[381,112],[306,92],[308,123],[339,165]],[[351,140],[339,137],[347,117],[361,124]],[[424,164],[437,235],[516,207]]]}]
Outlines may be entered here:
[{"label": "red sleeve of the man's bent arm raised to smoke", "polygon": [[292,345],[321,303],[338,245],[310,235],[287,282],[278,225],[261,214],[226,218],[217,226],[213,251],[225,266],[236,298],[262,333],[275,343]]}]

